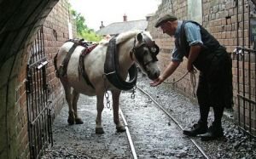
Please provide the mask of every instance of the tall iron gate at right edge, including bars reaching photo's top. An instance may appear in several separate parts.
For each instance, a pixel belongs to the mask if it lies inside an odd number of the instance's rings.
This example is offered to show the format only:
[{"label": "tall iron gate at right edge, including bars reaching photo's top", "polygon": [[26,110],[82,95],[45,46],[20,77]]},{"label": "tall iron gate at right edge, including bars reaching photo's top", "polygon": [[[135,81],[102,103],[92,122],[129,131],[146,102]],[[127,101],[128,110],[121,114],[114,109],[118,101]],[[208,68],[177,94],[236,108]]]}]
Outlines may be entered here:
[{"label": "tall iron gate at right edge, including bars reaching photo's top", "polygon": [[[240,5],[239,5],[240,4]],[[236,84],[236,117],[241,130],[256,134],[256,30],[255,4],[251,0],[236,0],[236,54],[234,58]],[[240,16],[241,15],[241,16]],[[241,20],[240,20],[240,18]],[[253,44],[253,46],[251,46]]]}]

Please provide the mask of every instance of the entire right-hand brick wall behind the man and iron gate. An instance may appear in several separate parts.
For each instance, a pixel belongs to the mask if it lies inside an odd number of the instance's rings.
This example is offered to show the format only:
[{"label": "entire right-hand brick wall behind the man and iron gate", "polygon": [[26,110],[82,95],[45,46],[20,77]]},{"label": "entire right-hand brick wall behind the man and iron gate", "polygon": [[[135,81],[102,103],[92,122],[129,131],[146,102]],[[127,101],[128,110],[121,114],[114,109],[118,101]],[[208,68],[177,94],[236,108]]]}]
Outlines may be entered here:
[{"label": "entire right-hand brick wall behind the man and iron gate", "polygon": [[[207,31],[212,33],[214,37],[216,37],[222,45],[227,48],[227,51],[232,54],[233,50],[236,46],[241,46],[244,48],[252,48],[251,43],[249,43],[248,39],[248,5],[252,8],[251,10],[255,9],[253,3],[247,0],[202,0],[201,1],[201,10],[202,10],[202,26],[204,26]],[[195,6],[197,9],[198,6]],[[171,52],[174,46],[173,38],[167,35],[164,35],[160,29],[155,29],[154,24],[156,20],[159,19],[160,16],[163,14],[175,14],[179,20],[188,20],[188,0],[162,0],[158,10],[156,11],[155,15],[149,19],[148,22],[148,31],[151,32],[152,36],[154,37],[157,44],[159,44],[161,50],[159,56],[160,60],[160,69],[166,67],[171,60]],[[237,14],[238,13],[238,14]],[[255,18],[255,14],[253,12],[250,13],[250,16]],[[249,124],[248,116],[249,112],[251,112],[252,116],[252,127],[253,133],[255,134],[255,105],[252,105],[251,111],[249,111],[248,103],[245,104],[245,112],[238,111],[238,99],[236,94],[241,94],[243,91],[243,85],[241,84],[242,77],[241,77],[241,69],[242,69],[242,61],[239,62],[239,71],[237,71],[237,63],[236,63],[236,56],[232,55],[233,57],[233,87],[234,87],[234,110],[236,115],[236,120],[238,120],[238,114],[240,112],[241,122],[243,122],[243,116],[245,114],[245,121],[247,125]],[[255,58],[255,55],[252,56],[252,59]],[[255,60],[245,62],[245,96],[248,97],[248,89],[251,92],[251,99],[255,101],[255,83],[251,83],[248,86],[248,65],[251,66],[251,82],[255,82]],[[184,58],[183,63],[179,66],[177,71],[167,79],[168,82],[173,82],[183,76],[186,72],[186,58]],[[240,72],[240,75],[237,75]],[[237,77],[239,76],[239,77]],[[196,74],[196,82],[198,81],[198,73]],[[238,79],[239,78],[239,83]],[[240,85],[240,91],[238,92],[237,86]],[[191,99],[195,99],[193,95],[194,87],[190,82],[190,77],[186,76],[181,82],[177,82],[172,84],[173,88],[177,89],[177,91],[181,92],[182,94],[188,96]],[[196,86],[195,86],[196,87]],[[240,101],[241,102],[241,101]]]}]

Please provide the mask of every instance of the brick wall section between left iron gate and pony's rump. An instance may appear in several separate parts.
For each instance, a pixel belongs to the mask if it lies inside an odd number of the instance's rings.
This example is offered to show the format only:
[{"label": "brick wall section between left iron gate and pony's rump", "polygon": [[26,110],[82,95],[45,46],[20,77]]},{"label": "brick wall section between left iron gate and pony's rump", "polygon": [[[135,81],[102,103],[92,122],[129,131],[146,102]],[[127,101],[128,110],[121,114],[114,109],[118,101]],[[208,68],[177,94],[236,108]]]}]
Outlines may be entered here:
[{"label": "brick wall section between left iron gate and pony's rump", "polygon": [[61,82],[55,77],[55,67],[53,60],[58,49],[69,38],[68,36],[68,5],[66,0],[61,0],[55,5],[51,13],[44,21],[44,45],[45,52],[48,54],[47,79],[49,80],[50,97],[52,105],[55,107],[55,114],[61,110],[63,105],[63,89]]}]

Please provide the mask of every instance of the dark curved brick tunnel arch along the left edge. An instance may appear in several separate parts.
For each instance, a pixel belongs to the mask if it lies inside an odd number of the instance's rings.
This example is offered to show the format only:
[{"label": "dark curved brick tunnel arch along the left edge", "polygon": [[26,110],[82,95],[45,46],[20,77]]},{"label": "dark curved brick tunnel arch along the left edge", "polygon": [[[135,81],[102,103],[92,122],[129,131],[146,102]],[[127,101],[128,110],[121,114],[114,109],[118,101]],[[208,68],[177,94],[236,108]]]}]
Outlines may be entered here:
[{"label": "dark curved brick tunnel arch along the left edge", "polygon": [[0,158],[22,158],[29,154],[20,151],[27,150],[27,135],[23,134],[26,117],[21,108],[26,103],[22,97],[26,96],[27,48],[56,3],[58,0],[0,3]]}]

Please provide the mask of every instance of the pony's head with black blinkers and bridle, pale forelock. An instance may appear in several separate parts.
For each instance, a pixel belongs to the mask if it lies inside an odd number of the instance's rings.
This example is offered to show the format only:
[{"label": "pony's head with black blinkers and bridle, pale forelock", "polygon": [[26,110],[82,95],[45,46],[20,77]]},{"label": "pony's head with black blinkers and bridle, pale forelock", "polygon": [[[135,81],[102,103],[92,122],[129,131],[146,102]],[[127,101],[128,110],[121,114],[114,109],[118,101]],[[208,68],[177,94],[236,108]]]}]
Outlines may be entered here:
[{"label": "pony's head with black blinkers and bridle, pale forelock", "polygon": [[131,58],[135,57],[136,63],[151,80],[160,76],[156,57],[159,51],[160,48],[154,43],[148,31],[137,33],[130,53]]}]

